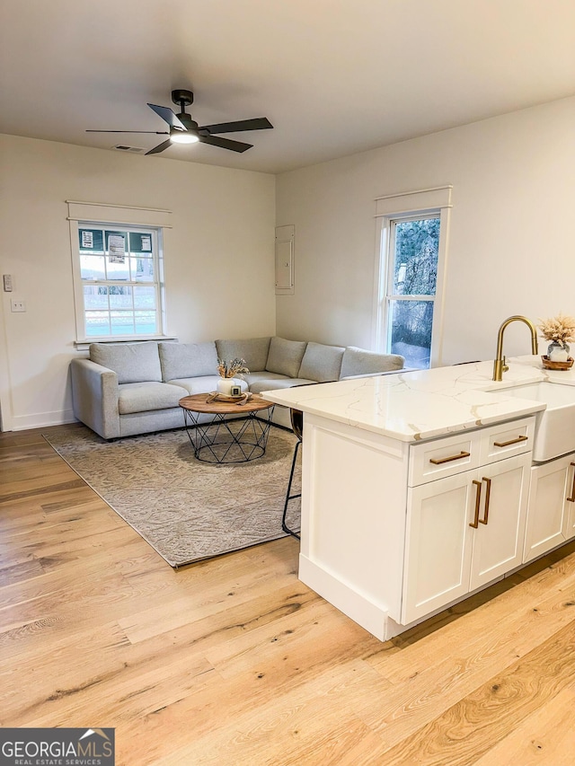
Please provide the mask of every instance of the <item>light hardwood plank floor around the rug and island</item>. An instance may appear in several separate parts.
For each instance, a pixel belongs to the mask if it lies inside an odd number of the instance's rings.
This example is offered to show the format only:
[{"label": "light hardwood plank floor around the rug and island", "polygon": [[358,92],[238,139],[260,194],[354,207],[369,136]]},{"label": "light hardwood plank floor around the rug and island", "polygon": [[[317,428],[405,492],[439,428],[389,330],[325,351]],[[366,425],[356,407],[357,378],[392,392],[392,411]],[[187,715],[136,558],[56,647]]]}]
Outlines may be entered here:
[{"label": "light hardwood plank floor around the rug and island", "polygon": [[0,726],[113,726],[122,766],[575,763],[575,544],[382,644],[292,538],[175,572],[39,430],[0,477]]}]

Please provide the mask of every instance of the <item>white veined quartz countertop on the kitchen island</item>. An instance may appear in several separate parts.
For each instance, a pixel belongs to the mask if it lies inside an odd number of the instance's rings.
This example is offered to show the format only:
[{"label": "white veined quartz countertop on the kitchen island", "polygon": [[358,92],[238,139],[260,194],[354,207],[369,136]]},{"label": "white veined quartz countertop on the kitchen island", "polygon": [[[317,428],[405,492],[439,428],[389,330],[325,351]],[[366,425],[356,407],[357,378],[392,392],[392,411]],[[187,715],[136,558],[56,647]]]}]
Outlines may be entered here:
[{"label": "white veined quartz countertop on the kitchen island", "polygon": [[575,399],[575,368],[552,372],[544,369],[541,357],[531,356],[512,357],[507,364],[501,383],[492,380],[489,361],[296,386],[264,391],[262,396],[403,442],[447,436],[545,409],[541,401],[506,394],[512,386],[538,381],[571,385]]}]

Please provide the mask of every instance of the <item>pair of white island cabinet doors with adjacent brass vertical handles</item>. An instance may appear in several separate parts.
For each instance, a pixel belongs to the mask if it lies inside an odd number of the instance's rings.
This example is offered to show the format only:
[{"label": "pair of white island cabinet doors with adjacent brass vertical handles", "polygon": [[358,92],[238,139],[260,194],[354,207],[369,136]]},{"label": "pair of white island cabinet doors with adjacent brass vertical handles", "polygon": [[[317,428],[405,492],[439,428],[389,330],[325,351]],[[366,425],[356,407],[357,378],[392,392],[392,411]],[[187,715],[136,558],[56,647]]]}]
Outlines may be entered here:
[{"label": "pair of white island cabinet doors with adjacent brass vertical handles", "polygon": [[529,453],[408,491],[402,623],[520,566]]}]

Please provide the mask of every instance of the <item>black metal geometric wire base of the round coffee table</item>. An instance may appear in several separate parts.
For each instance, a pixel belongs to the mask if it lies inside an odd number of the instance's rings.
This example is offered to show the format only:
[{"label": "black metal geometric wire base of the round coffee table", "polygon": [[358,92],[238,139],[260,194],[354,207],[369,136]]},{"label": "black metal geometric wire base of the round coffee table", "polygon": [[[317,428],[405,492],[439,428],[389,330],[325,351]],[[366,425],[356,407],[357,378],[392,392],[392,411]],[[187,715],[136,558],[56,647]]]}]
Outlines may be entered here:
[{"label": "black metal geometric wire base of the round coffee table", "polygon": [[199,412],[183,410],[183,421],[194,455],[203,462],[248,462],[266,451],[273,407],[265,410],[265,418],[250,412],[243,418],[227,418],[215,414],[207,423],[199,423]]}]

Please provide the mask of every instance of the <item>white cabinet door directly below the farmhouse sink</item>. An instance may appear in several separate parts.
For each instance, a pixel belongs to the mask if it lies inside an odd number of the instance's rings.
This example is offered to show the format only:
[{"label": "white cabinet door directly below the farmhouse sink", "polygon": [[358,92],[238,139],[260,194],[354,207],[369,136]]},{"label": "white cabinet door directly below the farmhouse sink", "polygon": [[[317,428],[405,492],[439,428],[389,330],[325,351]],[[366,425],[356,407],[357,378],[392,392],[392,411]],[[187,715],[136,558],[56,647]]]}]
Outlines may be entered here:
[{"label": "white cabinet door directly below the farmhouse sink", "polygon": [[[531,468],[529,508],[523,561],[542,556],[575,535],[573,497],[573,455],[558,458]],[[571,510],[571,518],[570,518]],[[570,527],[571,525],[571,533]]]}]

